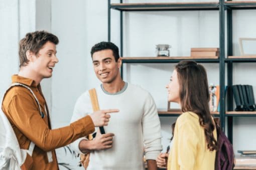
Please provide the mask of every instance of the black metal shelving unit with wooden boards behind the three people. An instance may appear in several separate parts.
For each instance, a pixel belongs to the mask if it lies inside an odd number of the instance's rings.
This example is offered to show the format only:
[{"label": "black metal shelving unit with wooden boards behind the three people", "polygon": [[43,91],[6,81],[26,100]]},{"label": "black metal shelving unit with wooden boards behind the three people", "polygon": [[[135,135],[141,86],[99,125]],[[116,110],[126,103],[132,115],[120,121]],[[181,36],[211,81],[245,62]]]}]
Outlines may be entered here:
[{"label": "black metal shelving unit with wooden boards behind the three people", "polygon": [[[123,12],[129,11],[167,11],[167,10],[218,10],[219,11],[219,57],[193,58],[189,56],[174,57],[122,57],[122,63],[177,63],[185,59],[193,59],[203,63],[219,64],[219,85],[220,85],[220,111],[215,112],[215,116],[220,117],[222,130],[227,128],[227,136],[232,142],[233,138],[233,117],[252,116],[256,117],[256,111],[237,112],[233,111],[233,95],[231,88],[227,89],[227,102],[225,102],[225,67],[227,68],[227,86],[233,85],[233,63],[235,62],[256,62],[256,56],[233,56],[233,32],[232,32],[232,11],[240,9],[256,9],[256,0],[230,1],[219,0],[214,2],[174,2],[174,3],[112,3],[108,0],[108,41],[110,41],[110,19],[111,9],[120,11],[120,55],[123,56]],[[225,16],[226,11],[226,16]],[[226,23],[225,23],[226,20]],[[226,28],[225,28],[226,25]],[[227,31],[225,31],[227,30]],[[226,34],[225,34],[226,33]],[[225,38],[226,48],[225,48]],[[227,50],[227,56],[225,56]],[[121,67],[121,76],[123,70]],[[227,108],[226,108],[227,106]],[[179,116],[181,112],[159,111],[159,116]],[[227,118],[227,124],[225,119]],[[240,169],[235,167],[235,169]],[[244,168],[243,168],[244,169]],[[256,169],[248,167],[247,169]]]}]

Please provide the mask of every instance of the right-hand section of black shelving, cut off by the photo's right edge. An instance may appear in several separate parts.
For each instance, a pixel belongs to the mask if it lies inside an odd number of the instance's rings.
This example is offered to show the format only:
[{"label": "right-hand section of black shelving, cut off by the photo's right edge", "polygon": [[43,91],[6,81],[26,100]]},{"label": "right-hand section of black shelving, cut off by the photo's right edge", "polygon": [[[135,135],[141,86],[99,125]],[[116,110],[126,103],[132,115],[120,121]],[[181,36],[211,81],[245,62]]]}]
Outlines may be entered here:
[{"label": "right-hand section of black shelving, cut off by the photo's right edge", "polygon": [[[227,64],[227,86],[233,85],[233,63],[234,62],[256,62],[256,56],[233,56],[233,22],[232,11],[237,9],[256,9],[256,1],[225,1],[224,7],[226,9],[227,20],[227,57],[224,59]],[[233,111],[233,96],[232,89],[229,88],[227,92],[227,111],[225,117],[227,118],[227,136],[233,142],[233,117],[255,117],[256,111]],[[234,169],[242,169],[242,167],[235,167]],[[253,167],[246,167],[243,169],[256,169]]]}]

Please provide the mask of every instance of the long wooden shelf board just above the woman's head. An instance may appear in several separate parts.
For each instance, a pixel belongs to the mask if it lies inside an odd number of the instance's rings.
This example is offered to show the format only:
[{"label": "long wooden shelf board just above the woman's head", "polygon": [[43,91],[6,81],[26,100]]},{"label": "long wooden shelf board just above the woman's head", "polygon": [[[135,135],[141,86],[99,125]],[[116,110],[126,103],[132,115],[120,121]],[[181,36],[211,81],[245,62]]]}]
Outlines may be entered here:
[{"label": "long wooden shelf board just above the woman's head", "polygon": [[218,59],[218,56],[150,56],[150,57],[121,57],[123,60],[129,60],[129,59],[155,59],[155,60],[161,60],[161,59]]}]

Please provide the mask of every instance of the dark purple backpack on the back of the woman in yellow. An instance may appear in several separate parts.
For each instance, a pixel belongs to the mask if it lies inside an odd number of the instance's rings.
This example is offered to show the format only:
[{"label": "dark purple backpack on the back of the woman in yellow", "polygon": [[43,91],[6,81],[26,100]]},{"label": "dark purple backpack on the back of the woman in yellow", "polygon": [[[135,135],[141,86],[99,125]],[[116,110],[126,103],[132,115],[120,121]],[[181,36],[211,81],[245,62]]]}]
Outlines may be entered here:
[{"label": "dark purple backpack on the back of the woman in yellow", "polygon": [[233,146],[216,121],[215,126],[217,130],[217,151],[215,157],[215,170],[231,170],[234,167]]}]

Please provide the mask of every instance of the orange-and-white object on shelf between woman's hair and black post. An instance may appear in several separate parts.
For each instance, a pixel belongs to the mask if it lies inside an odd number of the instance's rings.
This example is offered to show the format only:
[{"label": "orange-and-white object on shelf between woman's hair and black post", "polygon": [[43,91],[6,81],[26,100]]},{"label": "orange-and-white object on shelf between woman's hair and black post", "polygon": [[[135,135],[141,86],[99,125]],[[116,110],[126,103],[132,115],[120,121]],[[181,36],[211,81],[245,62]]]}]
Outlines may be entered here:
[{"label": "orange-and-white object on shelf between woman's hair and black post", "polygon": [[210,84],[209,93],[210,93],[210,101],[209,101],[210,111],[217,111],[218,104],[219,104],[219,85]]}]

